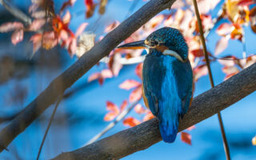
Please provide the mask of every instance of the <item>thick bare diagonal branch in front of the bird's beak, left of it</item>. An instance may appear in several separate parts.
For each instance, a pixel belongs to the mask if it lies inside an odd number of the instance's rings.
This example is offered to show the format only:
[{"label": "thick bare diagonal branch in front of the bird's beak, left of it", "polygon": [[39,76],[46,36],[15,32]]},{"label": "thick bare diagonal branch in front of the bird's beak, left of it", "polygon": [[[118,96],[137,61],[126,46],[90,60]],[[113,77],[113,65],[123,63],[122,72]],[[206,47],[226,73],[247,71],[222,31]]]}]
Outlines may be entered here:
[{"label": "thick bare diagonal branch in front of the bird's beak, left of it", "polygon": [[92,66],[94,66],[100,59],[110,53],[124,39],[128,38],[130,34],[138,30],[150,18],[154,17],[160,11],[170,8],[175,0],[151,0],[145,6],[142,6],[130,18],[122,22],[117,28],[111,31],[98,42],[91,50],[83,54],[72,66],[70,66],[64,73],[55,78],[46,90],[42,91],[37,98],[34,99],[24,110],[19,114],[8,126],[0,132],[0,151],[7,147],[14,138],[22,133],[27,126],[30,125],[44,110],[53,104],[58,96],[69,88],[74,82],[81,78]]}]

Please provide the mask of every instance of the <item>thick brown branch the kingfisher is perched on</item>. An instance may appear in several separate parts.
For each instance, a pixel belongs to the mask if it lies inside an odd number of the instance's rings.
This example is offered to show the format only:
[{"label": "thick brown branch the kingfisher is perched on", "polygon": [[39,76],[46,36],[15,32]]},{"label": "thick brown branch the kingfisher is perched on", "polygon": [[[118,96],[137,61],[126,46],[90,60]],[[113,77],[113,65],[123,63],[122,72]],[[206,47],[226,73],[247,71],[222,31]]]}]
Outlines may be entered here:
[{"label": "thick brown branch the kingfisher is perched on", "polygon": [[[254,90],[256,90],[256,63],[194,98],[189,112],[180,122],[179,131],[217,114]],[[138,150],[145,150],[159,141],[161,141],[161,135],[158,121],[154,118],[89,146],[60,154],[54,160],[118,159]]]}]

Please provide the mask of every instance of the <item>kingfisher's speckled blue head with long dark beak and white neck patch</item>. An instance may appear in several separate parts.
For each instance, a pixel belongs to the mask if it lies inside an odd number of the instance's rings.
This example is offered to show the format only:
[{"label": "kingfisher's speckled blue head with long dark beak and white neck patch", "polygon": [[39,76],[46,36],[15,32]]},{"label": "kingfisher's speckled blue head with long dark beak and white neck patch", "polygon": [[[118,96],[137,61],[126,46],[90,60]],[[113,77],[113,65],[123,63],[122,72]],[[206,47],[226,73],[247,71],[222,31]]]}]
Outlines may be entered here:
[{"label": "kingfisher's speckled blue head with long dark beak and white neck patch", "polygon": [[188,58],[188,46],[179,30],[163,27],[150,34],[146,40],[130,42],[118,48],[123,49],[148,49],[149,54],[158,50],[162,54],[171,55],[182,62]]}]

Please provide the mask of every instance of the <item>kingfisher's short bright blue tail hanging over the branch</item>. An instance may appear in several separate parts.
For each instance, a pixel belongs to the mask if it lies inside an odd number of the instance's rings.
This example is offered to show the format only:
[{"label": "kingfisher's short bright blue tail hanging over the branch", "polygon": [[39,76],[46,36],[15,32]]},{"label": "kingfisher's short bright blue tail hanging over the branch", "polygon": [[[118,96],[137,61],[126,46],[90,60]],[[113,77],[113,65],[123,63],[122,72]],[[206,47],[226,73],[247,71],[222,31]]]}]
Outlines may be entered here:
[{"label": "kingfisher's short bright blue tail hanging over the branch", "polygon": [[164,142],[174,142],[178,133],[178,122],[159,122],[160,133]]}]

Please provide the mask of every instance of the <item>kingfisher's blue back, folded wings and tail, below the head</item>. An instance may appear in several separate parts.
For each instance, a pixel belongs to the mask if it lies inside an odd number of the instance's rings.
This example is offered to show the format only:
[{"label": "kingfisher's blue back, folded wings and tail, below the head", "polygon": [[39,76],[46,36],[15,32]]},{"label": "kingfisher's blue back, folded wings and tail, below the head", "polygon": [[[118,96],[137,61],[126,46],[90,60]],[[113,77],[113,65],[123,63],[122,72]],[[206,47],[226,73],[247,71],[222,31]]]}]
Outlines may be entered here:
[{"label": "kingfisher's blue back, folded wings and tail, below the head", "polygon": [[192,96],[190,62],[165,55],[148,54],[143,64],[143,94],[152,114],[159,120],[165,142],[174,142],[179,118],[186,114]]}]

